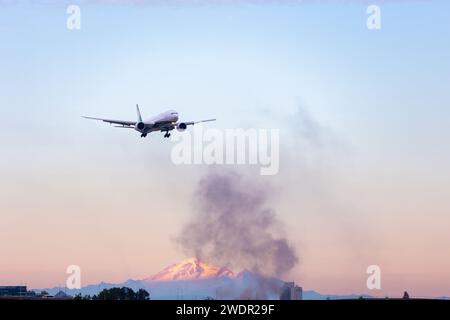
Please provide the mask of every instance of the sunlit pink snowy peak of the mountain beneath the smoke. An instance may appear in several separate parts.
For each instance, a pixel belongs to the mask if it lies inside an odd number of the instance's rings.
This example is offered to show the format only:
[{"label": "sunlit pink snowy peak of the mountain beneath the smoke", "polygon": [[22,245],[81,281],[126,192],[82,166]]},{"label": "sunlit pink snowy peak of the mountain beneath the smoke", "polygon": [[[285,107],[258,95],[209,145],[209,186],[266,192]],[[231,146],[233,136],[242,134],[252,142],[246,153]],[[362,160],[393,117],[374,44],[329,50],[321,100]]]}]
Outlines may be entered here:
[{"label": "sunlit pink snowy peak of the mountain beneath the smoke", "polygon": [[218,277],[234,277],[228,268],[220,268],[207,264],[200,259],[188,258],[173,264],[157,274],[145,279],[146,281],[197,280]]}]

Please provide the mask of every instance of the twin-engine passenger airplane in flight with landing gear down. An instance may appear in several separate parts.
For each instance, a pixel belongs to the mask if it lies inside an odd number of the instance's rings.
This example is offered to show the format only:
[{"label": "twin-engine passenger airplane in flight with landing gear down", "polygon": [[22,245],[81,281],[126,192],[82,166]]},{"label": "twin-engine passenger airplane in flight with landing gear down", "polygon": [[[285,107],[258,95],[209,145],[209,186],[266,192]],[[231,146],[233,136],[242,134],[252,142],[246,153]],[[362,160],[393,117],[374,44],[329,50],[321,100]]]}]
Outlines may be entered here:
[{"label": "twin-engine passenger airplane in flight with landing gear down", "polygon": [[207,119],[201,121],[189,121],[189,122],[178,122],[178,112],[175,110],[168,110],[166,112],[160,113],[157,116],[151,117],[146,120],[142,120],[141,111],[139,110],[139,105],[136,105],[137,121],[124,121],[124,120],[112,120],[103,118],[93,118],[82,116],[85,119],[90,120],[100,120],[107,122],[109,124],[115,124],[116,128],[126,128],[134,129],[141,133],[141,138],[145,138],[148,133],[153,131],[166,132],[164,138],[169,138],[169,131],[177,129],[178,131],[184,131],[187,126],[194,125],[200,122],[216,121],[216,119]]}]

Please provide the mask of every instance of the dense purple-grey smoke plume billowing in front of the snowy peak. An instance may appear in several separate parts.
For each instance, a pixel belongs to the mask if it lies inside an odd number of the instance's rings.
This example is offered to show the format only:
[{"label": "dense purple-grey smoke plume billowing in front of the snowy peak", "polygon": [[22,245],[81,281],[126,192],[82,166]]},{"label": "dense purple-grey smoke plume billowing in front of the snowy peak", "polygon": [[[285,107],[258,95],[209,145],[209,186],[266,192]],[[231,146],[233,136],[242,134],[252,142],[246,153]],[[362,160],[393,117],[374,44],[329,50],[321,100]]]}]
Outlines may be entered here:
[{"label": "dense purple-grey smoke plume billowing in front of the snowy peak", "polygon": [[199,183],[191,220],[177,238],[189,255],[263,276],[292,269],[298,257],[267,207],[269,188],[235,173],[209,174]]}]

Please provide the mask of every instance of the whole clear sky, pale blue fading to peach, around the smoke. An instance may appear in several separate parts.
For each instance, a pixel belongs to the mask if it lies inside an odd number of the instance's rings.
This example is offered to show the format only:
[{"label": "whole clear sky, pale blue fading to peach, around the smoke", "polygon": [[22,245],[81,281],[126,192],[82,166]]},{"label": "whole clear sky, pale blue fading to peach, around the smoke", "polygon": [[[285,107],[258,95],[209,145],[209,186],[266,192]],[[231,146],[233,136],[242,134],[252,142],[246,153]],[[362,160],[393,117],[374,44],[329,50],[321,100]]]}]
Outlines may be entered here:
[{"label": "whole clear sky, pale blue fading to peach, around the smoke", "polygon": [[[133,120],[139,103],[145,115],[174,108],[186,120],[216,117],[219,128],[290,133],[285,121],[300,105],[345,147],[331,147],[338,159],[323,159],[319,150],[313,160],[321,165],[312,171],[298,168],[297,157],[309,149],[287,152],[280,176],[267,178],[289,186],[278,210],[304,261],[292,278],[309,288],[362,292],[364,266],[339,269],[346,257],[390,268],[396,276],[387,293],[406,283],[424,295],[450,287],[439,269],[450,268],[448,258],[420,265],[426,254],[442,258],[440,245],[450,241],[448,1],[383,1],[379,31],[366,28],[367,3],[358,1],[83,3],[80,31],[66,29],[65,5],[36,2],[0,5],[0,243],[40,239],[33,249],[0,247],[10,257],[0,276],[53,285],[55,272],[74,263],[66,249],[91,268],[91,282],[145,277],[180,257],[170,237],[208,169],[174,167],[159,134],[142,140],[80,115]],[[282,144],[292,151],[295,140]],[[324,213],[333,210],[347,215],[338,221]],[[125,240],[123,228],[138,228],[137,221],[150,231]],[[415,243],[417,233],[429,237]],[[86,246],[61,247],[42,234],[102,240],[86,253]],[[409,243],[420,253],[398,257]],[[147,249],[167,254],[137,258]],[[110,258],[92,258],[98,250]],[[333,260],[329,252],[340,255]],[[34,253],[42,263],[27,269]],[[353,280],[345,287],[339,272],[357,269],[362,276],[346,274]],[[417,281],[398,282],[399,274]]]}]

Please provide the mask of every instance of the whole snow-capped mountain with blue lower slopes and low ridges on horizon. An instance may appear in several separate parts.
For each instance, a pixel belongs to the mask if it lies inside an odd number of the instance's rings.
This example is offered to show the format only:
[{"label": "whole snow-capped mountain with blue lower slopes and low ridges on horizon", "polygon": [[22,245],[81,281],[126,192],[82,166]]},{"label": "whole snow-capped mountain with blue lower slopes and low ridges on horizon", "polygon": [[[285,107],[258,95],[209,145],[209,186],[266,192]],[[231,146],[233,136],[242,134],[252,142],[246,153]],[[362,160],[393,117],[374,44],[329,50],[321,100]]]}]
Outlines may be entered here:
[{"label": "whole snow-capped mountain with blue lower slopes and low ridges on horizon", "polygon": [[[145,289],[150,292],[151,299],[278,299],[284,282],[277,278],[265,278],[256,273],[244,270],[233,273],[227,268],[220,268],[196,258],[164,268],[157,274],[144,280],[127,280],[122,283],[92,284],[81,289],[62,287],[38,289],[55,295],[60,291],[74,296],[95,295],[103,289],[113,287],[129,287],[133,290]],[[304,299],[339,299],[340,296],[321,295],[314,291],[305,291]],[[351,296],[345,298],[352,298]]]}]

